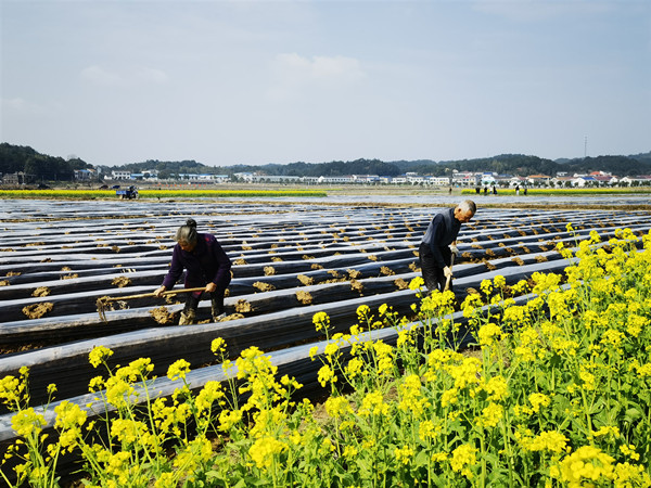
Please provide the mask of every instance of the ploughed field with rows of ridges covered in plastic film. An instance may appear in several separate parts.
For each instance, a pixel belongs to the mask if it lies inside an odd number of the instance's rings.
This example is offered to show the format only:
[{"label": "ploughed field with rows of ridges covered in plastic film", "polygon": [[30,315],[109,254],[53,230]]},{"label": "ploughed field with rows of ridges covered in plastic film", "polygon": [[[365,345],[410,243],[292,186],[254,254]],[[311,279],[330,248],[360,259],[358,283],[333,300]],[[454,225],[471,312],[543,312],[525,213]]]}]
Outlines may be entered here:
[{"label": "ploughed field with rows of ridges covered in plastic film", "polygon": [[[438,207],[457,200],[442,196]],[[608,241],[617,229],[638,236],[651,230],[643,209],[482,208],[483,200],[476,202],[477,215],[459,235],[459,303],[497,275],[506,286],[515,286],[534,273],[562,273],[571,260],[557,246],[573,247],[592,231]],[[321,364],[310,360],[309,351],[324,347],[328,337],[315,329],[312,318],[327,313],[330,334],[355,325],[360,306],[376,310],[387,305],[416,319],[418,292],[409,283],[420,275],[418,245],[436,209],[436,204],[393,200],[348,206],[290,198],[272,205],[253,200],[3,201],[0,377],[18,376],[28,367],[35,407],[47,402],[48,385],[54,383],[56,402],[67,399],[101,415],[88,394],[97,374],[88,358],[95,347],[113,351],[113,367],[151,358],[152,374],[159,376],[156,390],[167,396],[175,385],[165,373],[179,359],[191,364],[192,390],[221,374],[210,344],[222,338],[226,358],[234,360],[255,346],[282,374],[304,385],[302,395],[318,398],[328,390],[317,377]],[[161,284],[174,232],[190,217],[200,232],[217,236],[233,262],[227,319],[213,323],[206,300],[199,309],[202,323],[176,325],[180,301],[143,297],[116,301],[103,320],[99,299],[146,294]],[[397,339],[393,329],[381,334],[387,343]],[[468,336],[463,344],[475,341]],[[15,438],[11,413],[1,413],[0,442],[9,445]],[[46,418],[53,423],[51,410]]]}]

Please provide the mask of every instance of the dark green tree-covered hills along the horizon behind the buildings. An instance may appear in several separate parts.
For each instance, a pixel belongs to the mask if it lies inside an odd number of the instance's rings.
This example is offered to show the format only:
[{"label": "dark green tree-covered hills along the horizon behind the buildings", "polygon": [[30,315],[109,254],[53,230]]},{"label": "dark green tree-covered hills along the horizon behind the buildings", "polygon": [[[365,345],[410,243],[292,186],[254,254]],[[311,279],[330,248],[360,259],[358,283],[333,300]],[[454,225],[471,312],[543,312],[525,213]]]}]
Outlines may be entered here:
[{"label": "dark green tree-covered hills along the horizon behind the buildings", "polygon": [[[31,176],[34,181],[68,181],[74,178],[75,169],[90,169],[92,165],[79,158],[63,159],[62,157],[40,154],[29,146],[0,144],[0,172],[13,174],[22,171]],[[630,156],[597,156],[576,159],[551,160],[538,156],[523,154],[500,154],[493,157],[442,160],[394,160],[380,159],[332,160],[329,163],[296,162],[289,164],[267,164],[260,166],[232,165],[207,166],[193,159],[165,162],[148,159],[116,167],[98,166],[100,174],[111,174],[112,170],[142,172],[158,171],[159,179],[173,178],[182,174],[212,174],[232,177],[238,172],[261,172],[270,176],[296,177],[337,177],[347,175],[378,175],[395,177],[405,172],[417,172],[423,176],[451,176],[452,171],[496,172],[498,175],[529,176],[542,174],[556,176],[566,171],[573,174],[589,174],[607,171],[613,175],[638,176],[651,174],[651,152]]]}]

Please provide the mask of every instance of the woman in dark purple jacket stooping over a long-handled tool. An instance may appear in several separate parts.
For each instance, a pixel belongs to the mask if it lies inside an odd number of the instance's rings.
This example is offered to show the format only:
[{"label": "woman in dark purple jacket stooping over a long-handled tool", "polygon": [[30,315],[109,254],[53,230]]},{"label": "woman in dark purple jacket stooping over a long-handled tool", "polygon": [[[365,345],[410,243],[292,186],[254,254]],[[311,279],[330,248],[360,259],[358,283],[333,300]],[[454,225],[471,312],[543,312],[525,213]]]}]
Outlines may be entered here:
[{"label": "woman in dark purple jacket stooping over a long-handled tool", "polygon": [[[224,294],[231,281],[230,259],[213,234],[196,232],[196,222],[193,219],[188,219],[184,226],[179,227],[175,240],[177,244],[171,254],[169,272],[154,295],[163,296],[163,292],[173,288],[186,269],[186,287],[205,286],[205,293],[210,294],[213,320],[216,322],[221,320],[226,317]],[[202,293],[188,294],[179,325],[195,322]]]}]

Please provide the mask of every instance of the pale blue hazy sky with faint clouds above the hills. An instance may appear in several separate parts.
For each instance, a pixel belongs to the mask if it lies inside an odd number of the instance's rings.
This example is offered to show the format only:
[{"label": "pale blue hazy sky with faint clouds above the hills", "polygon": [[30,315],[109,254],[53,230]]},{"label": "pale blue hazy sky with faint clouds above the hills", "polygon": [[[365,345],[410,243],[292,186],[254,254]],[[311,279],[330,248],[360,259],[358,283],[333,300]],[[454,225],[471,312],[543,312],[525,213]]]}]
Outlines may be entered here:
[{"label": "pale blue hazy sky with faint clouds above the hills", "polygon": [[649,0],[0,0],[1,142],[91,165],[651,151]]}]

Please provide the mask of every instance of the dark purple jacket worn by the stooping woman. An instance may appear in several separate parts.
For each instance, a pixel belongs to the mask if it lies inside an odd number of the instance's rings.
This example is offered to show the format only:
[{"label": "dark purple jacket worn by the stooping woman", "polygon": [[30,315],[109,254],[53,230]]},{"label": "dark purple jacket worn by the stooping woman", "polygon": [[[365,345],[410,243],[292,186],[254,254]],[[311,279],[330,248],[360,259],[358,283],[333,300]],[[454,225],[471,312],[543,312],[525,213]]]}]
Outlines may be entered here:
[{"label": "dark purple jacket worn by the stooping woman", "polygon": [[169,272],[163,280],[163,286],[171,290],[183,269],[186,287],[204,286],[210,281],[217,285],[217,291],[224,291],[231,280],[231,261],[212,234],[196,234],[196,246],[188,253],[177,244],[171,254]]}]

